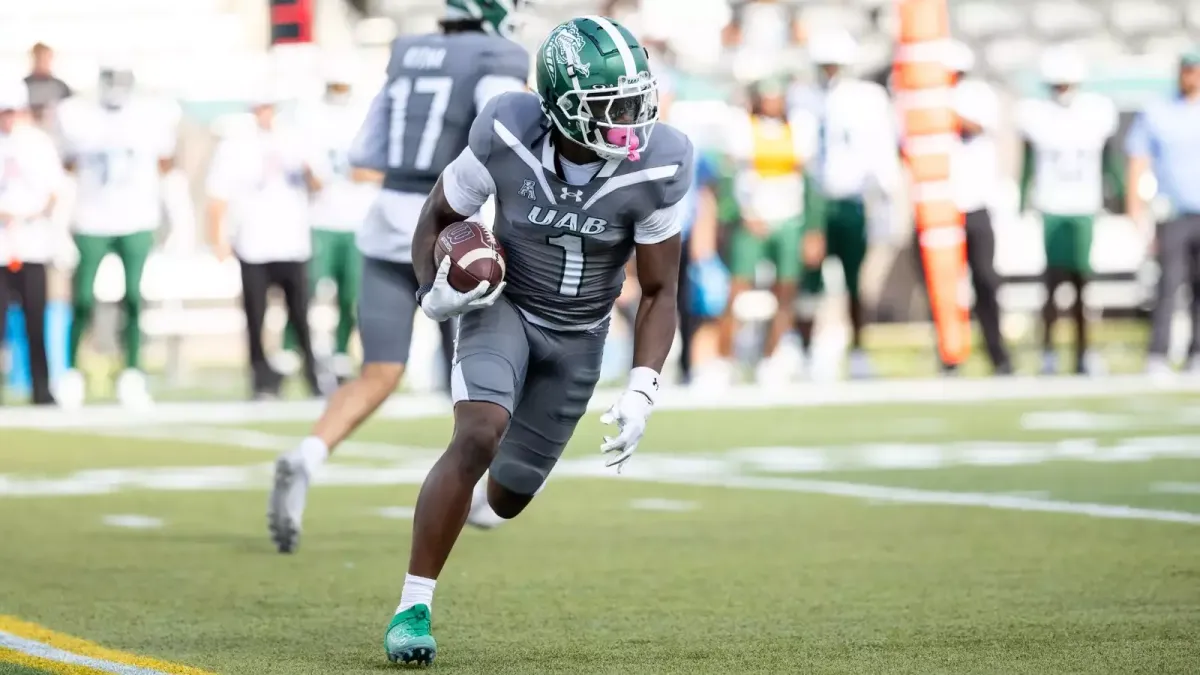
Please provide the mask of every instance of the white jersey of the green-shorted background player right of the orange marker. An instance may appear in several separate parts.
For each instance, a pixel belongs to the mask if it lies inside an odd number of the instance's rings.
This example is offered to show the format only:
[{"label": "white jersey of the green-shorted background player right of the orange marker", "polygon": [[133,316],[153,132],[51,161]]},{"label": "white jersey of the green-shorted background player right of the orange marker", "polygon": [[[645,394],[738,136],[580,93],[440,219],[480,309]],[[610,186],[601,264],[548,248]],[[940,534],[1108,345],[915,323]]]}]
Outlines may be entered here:
[{"label": "white jersey of the green-shorted background player right of the orange marker", "polygon": [[1069,104],[1025,101],[1018,127],[1033,148],[1033,208],[1044,214],[1087,215],[1104,201],[1104,145],[1117,130],[1108,98],[1079,92]]}]

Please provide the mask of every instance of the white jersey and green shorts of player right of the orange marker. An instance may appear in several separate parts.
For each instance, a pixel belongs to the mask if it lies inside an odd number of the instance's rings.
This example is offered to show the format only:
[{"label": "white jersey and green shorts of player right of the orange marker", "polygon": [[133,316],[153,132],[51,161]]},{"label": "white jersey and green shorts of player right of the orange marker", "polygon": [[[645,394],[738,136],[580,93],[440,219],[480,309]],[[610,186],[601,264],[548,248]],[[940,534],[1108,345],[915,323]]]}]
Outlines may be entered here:
[{"label": "white jersey and green shorts of player right of the orange marker", "polygon": [[1088,274],[1104,181],[1124,189],[1120,160],[1105,150],[1117,131],[1117,109],[1090,92],[1067,104],[1030,100],[1019,108],[1018,127],[1025,138],[1021,207],[1042,214],[1046,268]]}]

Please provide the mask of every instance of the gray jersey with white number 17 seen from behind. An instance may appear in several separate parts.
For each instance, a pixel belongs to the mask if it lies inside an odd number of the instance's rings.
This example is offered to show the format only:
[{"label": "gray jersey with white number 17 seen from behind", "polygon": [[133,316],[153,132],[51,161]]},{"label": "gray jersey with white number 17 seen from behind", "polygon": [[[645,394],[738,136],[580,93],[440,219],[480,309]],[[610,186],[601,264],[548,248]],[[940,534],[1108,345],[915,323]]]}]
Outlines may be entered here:
[{"label": "gray jersey with white number 17 seen from behind", "polygon": [[467,147],[475,88],[486,76],[529,78],[529,55],[482,32],[398,37],[388,62],[384,187],[427,195]]}]

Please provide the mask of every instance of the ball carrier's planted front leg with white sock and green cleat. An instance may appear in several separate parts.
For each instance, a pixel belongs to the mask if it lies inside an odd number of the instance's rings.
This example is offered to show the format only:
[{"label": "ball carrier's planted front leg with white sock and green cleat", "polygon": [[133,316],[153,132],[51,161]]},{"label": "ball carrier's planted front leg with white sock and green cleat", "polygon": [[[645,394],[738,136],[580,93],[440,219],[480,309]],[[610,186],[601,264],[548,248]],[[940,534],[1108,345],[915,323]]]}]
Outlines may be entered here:
[{"label": "ball carrier's planted front leg with white sock and green cleat", "polygon": [[463,315],[450,380],[454,436],[416,498],[408,574],[384,633],[389,661],[433,661],[430,608],[437,578],[467,520],[475,484],[496,458],[528,364],[526,324],[506,299]]}]

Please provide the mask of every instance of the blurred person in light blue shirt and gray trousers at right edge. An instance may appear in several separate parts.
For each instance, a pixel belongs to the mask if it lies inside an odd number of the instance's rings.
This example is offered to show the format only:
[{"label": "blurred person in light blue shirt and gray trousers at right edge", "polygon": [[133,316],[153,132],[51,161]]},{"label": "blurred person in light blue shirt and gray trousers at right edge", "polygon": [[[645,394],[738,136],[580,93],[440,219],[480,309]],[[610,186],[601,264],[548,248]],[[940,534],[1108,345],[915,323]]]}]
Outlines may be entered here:
[{"label": "blurred person in light blue shirt and gray trousers at right edge", "polygon": [[[1200,374],[1200,48],[1180,60],[1178,95],[1146,107],[1126,139],[1129,155],[1127,210],[1134,222],[1148,227],[1158,219],[1154,247],[1160,276],[1146,370],[1170,371],[1168,347],[1175,293],[1192,285],[1192,347],[1188,370]],[[1157,183],[1156,209],[1146,209],[1142,190],[1148,174]]]}]

